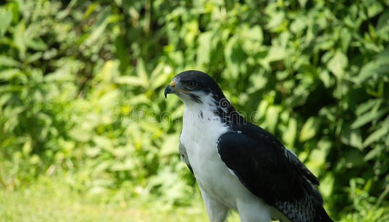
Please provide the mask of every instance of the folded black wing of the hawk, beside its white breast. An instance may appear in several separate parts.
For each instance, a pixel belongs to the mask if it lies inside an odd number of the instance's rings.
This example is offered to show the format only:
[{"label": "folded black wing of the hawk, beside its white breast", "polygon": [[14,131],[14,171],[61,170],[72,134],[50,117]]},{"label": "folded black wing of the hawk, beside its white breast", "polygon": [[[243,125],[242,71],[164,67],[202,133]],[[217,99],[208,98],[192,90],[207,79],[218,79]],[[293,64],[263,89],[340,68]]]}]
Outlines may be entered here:
[{"label": "folded black wing of the hawk, beside its white breast", "polygon": [[240,182],[291,222],[332,221],[313,184],[318,179],[272,134],[248,123],[218,139],[217,150]]}]

